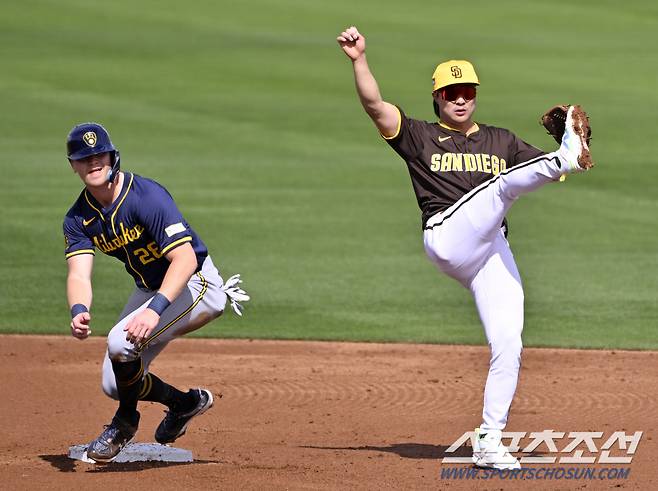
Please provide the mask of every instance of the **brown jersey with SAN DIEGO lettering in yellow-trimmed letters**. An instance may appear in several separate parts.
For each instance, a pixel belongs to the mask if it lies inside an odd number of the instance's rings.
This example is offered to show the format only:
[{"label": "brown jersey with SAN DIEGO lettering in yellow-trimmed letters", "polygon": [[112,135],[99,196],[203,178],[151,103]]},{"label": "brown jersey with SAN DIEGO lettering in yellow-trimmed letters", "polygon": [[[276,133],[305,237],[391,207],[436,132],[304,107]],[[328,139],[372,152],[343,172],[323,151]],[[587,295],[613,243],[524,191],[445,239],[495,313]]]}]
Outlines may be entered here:
[{"label": "brown jersey with SAN DIEGO lettering in yellow-trimmed letters", "polygon": [[401,109],[397,133],[384,138],[407,163],[423,226],[476,186],[546,153],[504,128],[478,124],[467,136],[443,123],[407,118]]}]

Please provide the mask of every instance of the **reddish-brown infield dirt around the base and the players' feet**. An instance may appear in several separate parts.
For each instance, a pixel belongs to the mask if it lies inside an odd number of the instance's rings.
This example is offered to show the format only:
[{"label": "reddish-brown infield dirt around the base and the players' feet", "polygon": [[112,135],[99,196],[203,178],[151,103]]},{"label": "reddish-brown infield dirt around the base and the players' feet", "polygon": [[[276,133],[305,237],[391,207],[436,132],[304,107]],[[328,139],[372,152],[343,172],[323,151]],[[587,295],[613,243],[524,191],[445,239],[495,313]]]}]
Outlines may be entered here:
[{"label": "reddish-brown infield dirt around the base and the players' feet", "polygon": [[[176,442],[195,462],[101,466],[67,451],[116,407],[100,389],[104,346],[0,337],[3,489],[658,489],[655,352],[523,354],[507,430],[643,431],[631,464],[592,465],[629,468],[627,479],[474,481],[442,479],[447,467],[470,468],[442,459],[469,454],[446,449],[480,422],[486,347],[180,339],[151,369],[216,396]],[[136,441],[152,442],[162,407],[140,411]],[[525,467],[542,466],[565,464]]]}]

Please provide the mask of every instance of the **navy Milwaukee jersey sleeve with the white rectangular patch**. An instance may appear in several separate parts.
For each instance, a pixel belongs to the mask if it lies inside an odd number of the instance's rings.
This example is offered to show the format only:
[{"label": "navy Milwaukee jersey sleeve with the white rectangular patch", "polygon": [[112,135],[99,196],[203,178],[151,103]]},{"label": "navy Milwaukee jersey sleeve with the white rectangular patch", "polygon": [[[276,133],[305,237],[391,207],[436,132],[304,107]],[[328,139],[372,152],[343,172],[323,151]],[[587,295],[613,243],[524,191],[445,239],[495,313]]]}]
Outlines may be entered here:
[{"label": "navy Milwaukee jersey sleeve with the white rectangular patch", "polygon": [[190,226],[178,210],[169,192],[151,181],[142,197],[141,223],[164,255],[186,242],[192,242]]}]

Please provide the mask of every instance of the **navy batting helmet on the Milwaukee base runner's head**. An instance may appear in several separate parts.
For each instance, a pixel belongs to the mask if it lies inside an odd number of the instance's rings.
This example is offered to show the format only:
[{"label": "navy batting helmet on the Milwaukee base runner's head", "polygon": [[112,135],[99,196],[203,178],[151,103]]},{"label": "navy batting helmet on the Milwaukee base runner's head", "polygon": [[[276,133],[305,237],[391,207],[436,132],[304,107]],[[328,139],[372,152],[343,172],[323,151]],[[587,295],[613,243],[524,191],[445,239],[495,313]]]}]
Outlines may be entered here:
[{"label": "navy batting helmet on the Milwaukee base runner's head", "polygon": [[107,176],[109,182],[119,175],[121,158],[112,144],[110,134],[98,123],[82,123],[73,127],[66,137],[66,155],[69,160],[80,160],[99,153],[110,153],[112,169]]}]

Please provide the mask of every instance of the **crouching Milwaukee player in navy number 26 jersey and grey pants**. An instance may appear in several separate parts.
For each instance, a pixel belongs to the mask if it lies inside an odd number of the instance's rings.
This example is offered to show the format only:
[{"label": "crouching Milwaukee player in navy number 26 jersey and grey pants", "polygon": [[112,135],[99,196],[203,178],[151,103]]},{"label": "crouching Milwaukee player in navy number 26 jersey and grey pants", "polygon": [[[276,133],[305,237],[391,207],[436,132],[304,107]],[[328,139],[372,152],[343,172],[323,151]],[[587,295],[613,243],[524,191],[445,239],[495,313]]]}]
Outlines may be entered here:
[{"label": "crouching Milwaukee player in navy number 26 jersey and grey pants", "polygon": [[249,300],[235,275],[226,283],[208,250],[161,185],[120,169],[119,152],[97,123],[75,126],[67,156],[84,189],[64,219],[71,333],[91,333],[91,273],[95,251],[116,257],[135,280],[119,321],[107,337],[102,386],[119,401],[111,423],[87,448],[96,462],[112,461],[135,436],[138,401],[167,406],[155,431],[159,443],[182,436],[190,420],[213,405],[207,389],[182,392],[149,371],[172,339],[199,329],[224,311],[240,314]]}]

